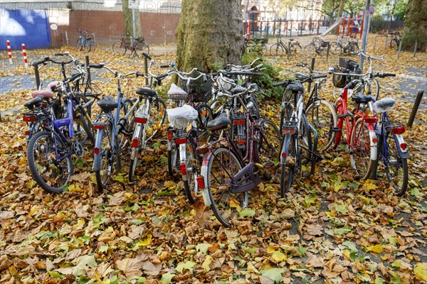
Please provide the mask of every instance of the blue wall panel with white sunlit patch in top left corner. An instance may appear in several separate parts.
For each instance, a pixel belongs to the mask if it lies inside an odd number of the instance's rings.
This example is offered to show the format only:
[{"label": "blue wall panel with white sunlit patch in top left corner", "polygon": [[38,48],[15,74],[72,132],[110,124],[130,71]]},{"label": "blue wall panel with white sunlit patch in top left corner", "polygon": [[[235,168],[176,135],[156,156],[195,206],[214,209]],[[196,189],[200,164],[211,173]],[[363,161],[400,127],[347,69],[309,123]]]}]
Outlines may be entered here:
[{"label": "blue wall panel with white sunlit patch in top left corner", "polygon": [[0,9],[0,50],[6,50],[6,40],[12,50],[48,48],[51,46],[51,31],[47,11]]}]

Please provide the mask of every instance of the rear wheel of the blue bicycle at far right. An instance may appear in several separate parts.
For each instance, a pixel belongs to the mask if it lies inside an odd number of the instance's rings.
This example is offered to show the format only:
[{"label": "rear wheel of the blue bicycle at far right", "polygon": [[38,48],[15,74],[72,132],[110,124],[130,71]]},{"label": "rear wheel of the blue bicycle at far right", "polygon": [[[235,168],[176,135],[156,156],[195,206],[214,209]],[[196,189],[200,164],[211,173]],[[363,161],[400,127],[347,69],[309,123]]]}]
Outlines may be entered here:
[{"label": "rear wheel of the blue bicycle at far right", "polygon": [[399,154],[400,146],[396,134],[387,131],[384,151],[384,168],[387,181],[394,187],[397,196],[402,196],[408,187],[408,162]]}]

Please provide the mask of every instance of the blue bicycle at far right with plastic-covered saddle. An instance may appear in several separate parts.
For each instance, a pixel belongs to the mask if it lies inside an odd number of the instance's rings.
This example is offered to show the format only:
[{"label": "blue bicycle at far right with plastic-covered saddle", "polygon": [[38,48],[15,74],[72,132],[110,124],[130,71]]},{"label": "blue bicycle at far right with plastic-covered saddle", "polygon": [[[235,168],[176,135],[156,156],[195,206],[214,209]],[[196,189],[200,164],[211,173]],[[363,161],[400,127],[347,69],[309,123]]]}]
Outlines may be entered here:
[{"label": "blue bicycle at far right with plastic-covered saddle", "polygon": [[411,158],[408,153],[402,134],[405,126],[398,122],[391,121],[386,111],[392,109],[396,101],[384,98],[374,102],[374,111],[380,115],[379,124],[376,125],[376,132],[379,134],[379,150],[376,160],[371,161],[371,179],[376,179],[379,162],[384,166],[386,180],[394,187],[397,196],[403,196],[408,187],[408,162]]}]

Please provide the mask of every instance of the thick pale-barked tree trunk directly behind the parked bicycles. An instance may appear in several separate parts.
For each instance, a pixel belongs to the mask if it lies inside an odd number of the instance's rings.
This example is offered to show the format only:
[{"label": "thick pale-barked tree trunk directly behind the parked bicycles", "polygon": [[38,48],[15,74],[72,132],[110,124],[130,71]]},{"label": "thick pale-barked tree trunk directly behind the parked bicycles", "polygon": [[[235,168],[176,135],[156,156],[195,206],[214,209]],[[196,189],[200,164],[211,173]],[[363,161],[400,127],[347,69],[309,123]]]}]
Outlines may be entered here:
[{"label": "thick pale-barked tree trunk directly behind the parked bicycles", "polygon": [[176,67],[208,72],[240,63],[243,52],[241,0],[183,0],[176,28]]}]

